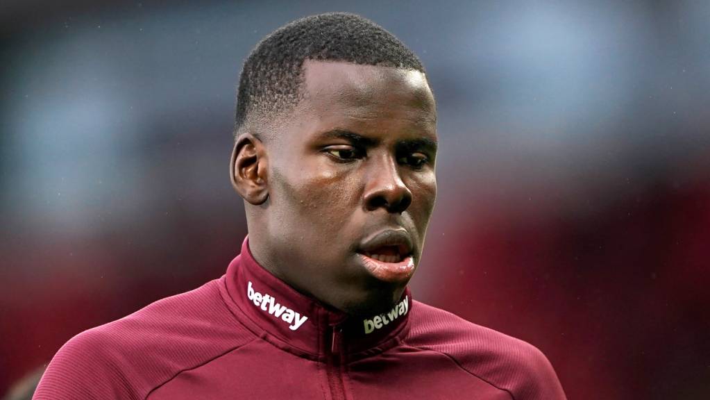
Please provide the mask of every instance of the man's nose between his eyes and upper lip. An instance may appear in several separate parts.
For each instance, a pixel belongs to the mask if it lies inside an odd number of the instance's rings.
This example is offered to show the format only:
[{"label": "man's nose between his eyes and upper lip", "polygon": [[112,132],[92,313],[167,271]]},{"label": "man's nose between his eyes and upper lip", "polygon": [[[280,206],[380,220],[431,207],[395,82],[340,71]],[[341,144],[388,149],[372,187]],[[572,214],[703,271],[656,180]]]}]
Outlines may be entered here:
[{"label": "man's nose between his eyes and upper lip", "polygon": [[365,183],[365,207],[369,211],[382,207],[388,212],[402,213],[412,203],[412,192],[400,176],[392,155],[371,158],[375,161]]}]

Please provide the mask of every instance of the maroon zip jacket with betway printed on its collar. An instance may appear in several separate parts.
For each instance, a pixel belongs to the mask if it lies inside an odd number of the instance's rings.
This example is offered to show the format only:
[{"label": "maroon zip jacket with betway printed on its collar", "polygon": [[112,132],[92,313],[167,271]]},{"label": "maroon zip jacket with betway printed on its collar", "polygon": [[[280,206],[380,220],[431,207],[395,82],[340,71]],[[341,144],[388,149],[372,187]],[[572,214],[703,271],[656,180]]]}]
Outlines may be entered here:
[{"label": "maroon zip jacket with betway printed on its collar", "polygon": [[33,399],[564,399],[535,347],[413,301],[355,318],[259,266],[67,342]]}]

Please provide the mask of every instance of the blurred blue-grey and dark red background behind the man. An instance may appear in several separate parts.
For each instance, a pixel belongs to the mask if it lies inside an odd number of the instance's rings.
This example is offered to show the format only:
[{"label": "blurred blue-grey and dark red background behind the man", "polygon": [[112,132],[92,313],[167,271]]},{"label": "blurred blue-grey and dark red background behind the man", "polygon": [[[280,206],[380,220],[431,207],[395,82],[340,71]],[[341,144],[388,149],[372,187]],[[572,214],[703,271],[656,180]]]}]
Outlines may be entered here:
[{"label": "blurred blue-grey and dark red background behind the man", "polygon": [[570,399],[710,398],[707,1],[0,6],[0,396],[221,276],[241,63],[361,13],[420,56],[439,197],[415,298],[539,347]]}]

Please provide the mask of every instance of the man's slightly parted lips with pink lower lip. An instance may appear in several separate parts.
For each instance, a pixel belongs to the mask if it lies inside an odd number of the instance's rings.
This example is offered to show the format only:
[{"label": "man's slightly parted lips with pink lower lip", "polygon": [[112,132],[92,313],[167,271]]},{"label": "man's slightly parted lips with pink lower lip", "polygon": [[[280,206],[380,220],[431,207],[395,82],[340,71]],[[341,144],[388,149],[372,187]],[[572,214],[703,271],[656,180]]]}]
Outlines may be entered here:
[{"label": "man's slightly parted lips with pink lower lip", "polygon": [[358,257],[370,274],[381,281],[408,281],[414,273],[413,241],[405,229],[385,229],[371,234],[360,245]]}]

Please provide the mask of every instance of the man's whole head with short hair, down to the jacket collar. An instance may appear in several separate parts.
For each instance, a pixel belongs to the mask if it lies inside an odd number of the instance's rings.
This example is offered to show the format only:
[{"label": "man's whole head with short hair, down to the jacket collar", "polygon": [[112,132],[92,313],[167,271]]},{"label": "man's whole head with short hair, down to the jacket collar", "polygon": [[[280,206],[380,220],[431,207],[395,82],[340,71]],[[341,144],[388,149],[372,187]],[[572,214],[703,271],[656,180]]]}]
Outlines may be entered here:
[{"label": "man's whole head with short hair, down to the jacket collar", "polygon": [[417,57],[352,14],[290,23],[244,64],[235,136],[256,260],[334,308],[391,307],[436,198],[436,107]]}]

